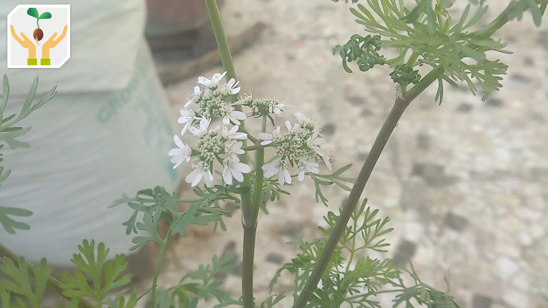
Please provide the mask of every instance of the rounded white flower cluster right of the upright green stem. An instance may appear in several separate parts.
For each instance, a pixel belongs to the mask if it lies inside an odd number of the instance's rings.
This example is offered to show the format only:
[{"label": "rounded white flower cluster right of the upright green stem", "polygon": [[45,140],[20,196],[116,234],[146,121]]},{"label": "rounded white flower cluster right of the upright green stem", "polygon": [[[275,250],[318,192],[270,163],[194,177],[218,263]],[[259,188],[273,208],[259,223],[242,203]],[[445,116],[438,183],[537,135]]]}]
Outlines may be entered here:
[{"label": "rounded white flower cluster right of the upright green stem", "polygon": [[278,174],[280,185],[286,182],[291,184],[289,166],[296,167],[294,173],[297,174],[299,181],[304,180],[306,172],[319,172],[317,159],[321,159],[329,170],[332,169],[329,154],[321,147],[326,140],[316,128],[317,122],[301,112],[295,113],[295,117],[298,123],[295,123],[293,127],[289,121],[286,121],[287,133],[282,134],[278,126],[272,134],[259,134],[259,139],[262,140],[261,145],[276,144],[275,159],[261,168],[265,172],[265,178]]}]

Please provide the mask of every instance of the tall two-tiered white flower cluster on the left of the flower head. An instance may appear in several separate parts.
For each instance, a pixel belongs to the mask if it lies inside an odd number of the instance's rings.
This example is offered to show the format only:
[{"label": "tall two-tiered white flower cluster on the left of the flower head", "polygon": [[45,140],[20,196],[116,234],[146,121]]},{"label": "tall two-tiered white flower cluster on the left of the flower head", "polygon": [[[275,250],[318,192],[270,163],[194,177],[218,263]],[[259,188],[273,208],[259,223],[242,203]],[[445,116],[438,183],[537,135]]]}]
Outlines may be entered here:
[{"label": "tall two-tiered white flower cluster on the left of the flower head", "polygon": [[[234,94],[238,94],[240,88],[238,82],[231,78],[227,84],[219,87],[219,83],[226,72],[215,73],[211,79],[199,77],[198,83],[206,87],[202,90],[196,86],[192,93],[192,99],[185,104],[185,109],[181,110],[180,124],[185,124],[181,130],[184,135],[188,130],[191,134],[198,137],[196,142],[197,149],[192,149],[184,144],[179,136],[175,135],[176,149],[168,152],[171,156],[171,162],[175,164],[174,169],[179,167],[182,162],[190,163],[194,169],[186,176],[185,181],[191,186],[196,186],[204,180],[206,186],[213,186],[214,162],[222,164],[222,179],[226,184],[232,185],[233,179],[243,182],[243,174],[251,172],[251,168],[239,161],[238,155],[243,154],[242,141],[247,139],[246,133],[238,132],[240,120],[246,118],[241,111],[236,111],[225,100]],[[191,108],[197,105],[197,111]],[[217,126],[209,129],[209,124],[214,116],[222,117],[222,129]],[[199,123],[199,127],[193,127],[192,124]],[[233,126],[229,129],[227,126]]]}]

